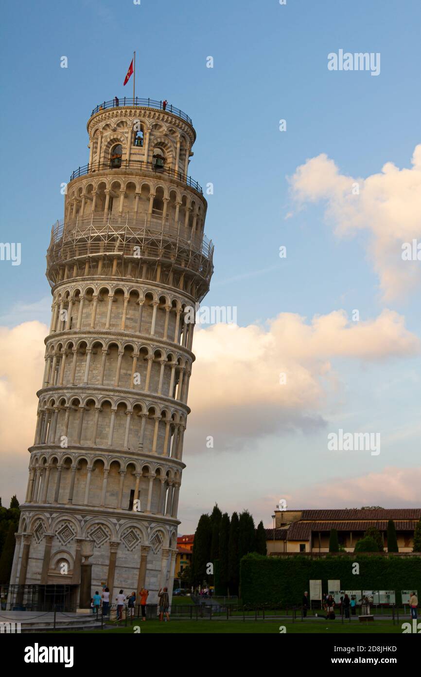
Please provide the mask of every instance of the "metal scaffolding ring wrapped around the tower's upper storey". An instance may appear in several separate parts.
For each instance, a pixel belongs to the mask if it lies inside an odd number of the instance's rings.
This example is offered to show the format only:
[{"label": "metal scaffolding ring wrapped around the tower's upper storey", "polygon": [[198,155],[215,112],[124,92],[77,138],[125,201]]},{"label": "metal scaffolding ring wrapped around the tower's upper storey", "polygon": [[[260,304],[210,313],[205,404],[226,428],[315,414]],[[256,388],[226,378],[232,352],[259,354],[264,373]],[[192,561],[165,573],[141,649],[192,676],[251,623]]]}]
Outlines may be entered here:
[{"label": "metal scaffolding ring wrapped around the tower's upper storey", "polygon": [[57,284],[57,267],[86,257],[110,257],[156,262],[178,270],[189,270],[197,278],[203,295],[214,270],[214,245],[190,227],[153,214],[109,213],[57,221],[51,227],[47,250],[47,278]]}]

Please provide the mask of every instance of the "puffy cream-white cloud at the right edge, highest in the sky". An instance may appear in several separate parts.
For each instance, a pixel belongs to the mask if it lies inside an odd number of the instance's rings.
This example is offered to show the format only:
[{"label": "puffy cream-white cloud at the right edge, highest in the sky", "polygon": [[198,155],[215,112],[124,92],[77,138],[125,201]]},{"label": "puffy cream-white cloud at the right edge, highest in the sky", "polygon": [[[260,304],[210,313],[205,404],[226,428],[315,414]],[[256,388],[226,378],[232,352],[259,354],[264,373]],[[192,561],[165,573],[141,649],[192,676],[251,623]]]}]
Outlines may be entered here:
[{"label": "puffy cream-white cloud at the right edge, highest in the sky", "polygon": [[[297,168],[291,177],[297,204],[326,200],[326,218],[338,236],[370,234],[367,255],[373,261],[386,301],[420,288],[419,261],[403,261],[402,244],[421,242],[421,144],[412,169],[387,162],[381,173],[366,179],[341,174],[335,162],[320,154]],[[358,183],[359,194],[353,194]]]}]

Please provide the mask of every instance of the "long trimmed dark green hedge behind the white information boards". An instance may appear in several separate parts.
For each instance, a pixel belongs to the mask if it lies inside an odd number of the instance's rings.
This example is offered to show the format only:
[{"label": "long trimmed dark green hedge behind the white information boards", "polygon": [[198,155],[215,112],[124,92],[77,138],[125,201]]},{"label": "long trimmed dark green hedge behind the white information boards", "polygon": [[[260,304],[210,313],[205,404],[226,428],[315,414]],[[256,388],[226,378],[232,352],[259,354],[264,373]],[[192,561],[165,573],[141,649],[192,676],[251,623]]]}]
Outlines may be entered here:
[{"label": "long trimmed dark green hedge behind the white information boards", "polygon": [[[352,573],[353,562],[360,573]],[[245,604],[301,604],[309,580],[322,580],[322,592],[328,592],[328,580],[339,579],[341,590],[395,590],[401,603],[401,590],[421,593],[421,558],[351,554],[328,555],[309,559],[265,557],[247,554],[240,564],[241,598]]]}]

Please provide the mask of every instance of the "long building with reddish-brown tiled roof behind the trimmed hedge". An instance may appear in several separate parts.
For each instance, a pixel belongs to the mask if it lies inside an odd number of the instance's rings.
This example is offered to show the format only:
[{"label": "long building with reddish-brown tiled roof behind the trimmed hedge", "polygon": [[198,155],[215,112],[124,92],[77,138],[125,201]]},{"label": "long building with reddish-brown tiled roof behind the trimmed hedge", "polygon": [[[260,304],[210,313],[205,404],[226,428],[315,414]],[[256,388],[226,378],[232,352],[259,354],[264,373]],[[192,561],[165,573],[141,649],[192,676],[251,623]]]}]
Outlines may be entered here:
[{"label": "long building with reddish-brown tiled roof behind the trimmed hedge", "polygon": [[337,529],[339,545],[353,552],[368,527],[380,531],[387,548],[389,519],[395,523],[399,552],[412,552],[421,508],[275,510],[274,515],[274,528],[266,529],[268,554],[328,552],[331,529]]}]

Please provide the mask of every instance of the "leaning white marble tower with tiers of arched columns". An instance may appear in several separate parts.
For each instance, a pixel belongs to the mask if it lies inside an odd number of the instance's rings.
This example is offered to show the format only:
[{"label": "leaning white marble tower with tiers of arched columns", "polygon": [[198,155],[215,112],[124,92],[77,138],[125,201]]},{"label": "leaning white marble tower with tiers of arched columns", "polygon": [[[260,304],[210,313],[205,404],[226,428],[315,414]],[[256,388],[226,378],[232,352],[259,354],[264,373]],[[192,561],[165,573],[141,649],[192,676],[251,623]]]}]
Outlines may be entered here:
[{"label": "leaning white marble tower with tiers of arched columns", "polygon": [[107,585],[172,591],[192,364],[209,289],[191,118],[162,102],[97,106],[89,163],[47,251],[53,303],[14,602],[86,607]]}]

